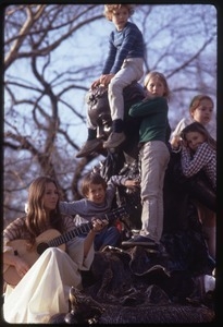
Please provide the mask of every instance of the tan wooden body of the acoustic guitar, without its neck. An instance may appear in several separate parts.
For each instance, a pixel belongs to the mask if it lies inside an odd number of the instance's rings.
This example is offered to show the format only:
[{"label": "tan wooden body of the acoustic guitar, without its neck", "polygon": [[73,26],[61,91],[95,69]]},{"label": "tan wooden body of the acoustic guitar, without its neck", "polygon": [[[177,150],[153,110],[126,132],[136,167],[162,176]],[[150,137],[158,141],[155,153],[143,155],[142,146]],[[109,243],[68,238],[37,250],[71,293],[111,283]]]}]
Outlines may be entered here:
[{"label": "tan wooden body of the acoustic guitar, without its neck", "polygon": [[[32,246],[32,249],[28,246],[27,240],[11,241],[9,242],[9,246],[12,246],[15,255],[18,255],[32,267],[41,255],[41,253],[38,253],[38,246],[41,246],[41,244],[46,245],[44,246],[46,250],[49,247],[48,242],[60,235],[61,233],[58,230],[49,229],[36,238],[36,243]],[[58,247],[65,251],[65,244],[61,244]],[[14,266],[8,266],[8,268],[4,268],[3,270],[5,270],[3,279],[7,283],[15,287],[21,281],[22,277],[17,274]]]}]

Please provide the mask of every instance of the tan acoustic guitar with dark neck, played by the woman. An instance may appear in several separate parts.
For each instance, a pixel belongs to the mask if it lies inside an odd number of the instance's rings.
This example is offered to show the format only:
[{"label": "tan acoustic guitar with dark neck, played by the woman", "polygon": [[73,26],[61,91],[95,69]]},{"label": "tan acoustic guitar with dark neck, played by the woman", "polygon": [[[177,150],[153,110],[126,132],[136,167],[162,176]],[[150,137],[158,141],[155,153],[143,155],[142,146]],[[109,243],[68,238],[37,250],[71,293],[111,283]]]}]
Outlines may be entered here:
[{"label": "tan acoustic guitar with dark neck, played by the woman", "polygon": [[[126,217],[128,215],[126,206],[122,206],[111,210],[109,214],[100,215],[100,219],[106,219],[109,222],[112,222],[117,218]],[[9,242],[9,246],[13,249],[15,255],[24,258],[24,261],[26,261],[26,263],[32,267],[48,247],[54,246],[65,251],[66,242],[75,237],[89,232],[91,228],[92,222],[89,221],[63,234],[61,234],[57,229],[49,229],[36,238],[35,244],[32,247],[27,240],[13,240]],[[4,281],[13,287],[16,286],[23,278],[17,274],[15,267],[12,265],[4,265],[3,271]]]}]

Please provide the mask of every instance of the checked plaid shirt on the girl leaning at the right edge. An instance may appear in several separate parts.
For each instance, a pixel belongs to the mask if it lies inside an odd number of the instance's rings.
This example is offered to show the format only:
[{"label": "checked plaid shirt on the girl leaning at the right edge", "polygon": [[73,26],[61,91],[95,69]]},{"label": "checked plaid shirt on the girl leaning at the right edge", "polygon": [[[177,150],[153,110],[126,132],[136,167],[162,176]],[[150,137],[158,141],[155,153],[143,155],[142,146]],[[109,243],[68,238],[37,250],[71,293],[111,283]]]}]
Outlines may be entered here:
[{"label": "checked plaid shirt on the girl leaning at the right edge", "polygon": [[189,148],[182,149],[182,170],[184,175],[193,177],[198,171],[203,169],[213,189],[216,189],[216,152],[207,143],[203,142],[198,146],[194,156]]}]

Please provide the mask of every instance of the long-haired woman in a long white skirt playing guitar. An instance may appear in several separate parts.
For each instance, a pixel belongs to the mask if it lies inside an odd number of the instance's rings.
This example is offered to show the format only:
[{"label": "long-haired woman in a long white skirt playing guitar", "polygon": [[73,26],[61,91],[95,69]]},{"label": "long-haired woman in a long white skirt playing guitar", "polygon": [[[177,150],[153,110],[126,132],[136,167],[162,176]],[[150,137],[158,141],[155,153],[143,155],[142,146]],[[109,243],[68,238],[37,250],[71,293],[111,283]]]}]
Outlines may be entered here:
[{"label": "long-haired woman in a long white skirt playing guitar", "polygon": [[3,275],[15,272],[4,294],[8,323],[47,323],[53,314],[67,311],[71,287],[82,289],[80,270],[89,269],[95,235],[108,222],[92,219],[86,238],[39,252],[39,244],[74,229],[73,218],[60,214],[59,201],[54,180],[37,178],[29,186],[26,216],[3,231]]}]

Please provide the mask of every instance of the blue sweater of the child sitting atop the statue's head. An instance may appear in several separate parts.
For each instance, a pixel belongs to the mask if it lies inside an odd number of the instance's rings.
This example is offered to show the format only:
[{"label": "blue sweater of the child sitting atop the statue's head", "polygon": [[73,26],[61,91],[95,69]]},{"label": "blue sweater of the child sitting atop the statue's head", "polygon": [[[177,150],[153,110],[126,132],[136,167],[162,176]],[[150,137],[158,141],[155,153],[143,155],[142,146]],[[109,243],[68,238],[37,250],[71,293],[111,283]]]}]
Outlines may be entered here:
[{"label": "blue sweater of the child sitting atop the statue's head", "polygon": [[143,34],[134,23],[127,22],[122,31],[113,31],[109,45],[102,74],[119,72],[126,58],[144,58]]}]

